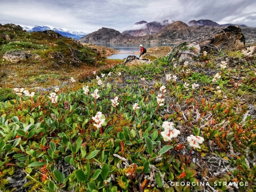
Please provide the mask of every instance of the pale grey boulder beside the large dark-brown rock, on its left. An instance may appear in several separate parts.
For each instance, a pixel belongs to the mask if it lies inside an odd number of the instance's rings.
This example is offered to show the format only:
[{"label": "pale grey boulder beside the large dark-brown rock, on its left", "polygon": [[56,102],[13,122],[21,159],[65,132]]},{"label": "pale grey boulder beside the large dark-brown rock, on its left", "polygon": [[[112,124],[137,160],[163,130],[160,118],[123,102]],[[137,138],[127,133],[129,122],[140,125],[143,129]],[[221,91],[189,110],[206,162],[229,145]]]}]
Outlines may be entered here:
[{"label": "pale grey boulder beside the large dark-brown rock, on its left", "polygon": [[193,57],[198,57],[201,51],[200,45],[198,44],[191,43],[186,45],[186,47],[188,47],[188,49],[180,53],[179,62],[181,63],[186,60],[193,60]]}]

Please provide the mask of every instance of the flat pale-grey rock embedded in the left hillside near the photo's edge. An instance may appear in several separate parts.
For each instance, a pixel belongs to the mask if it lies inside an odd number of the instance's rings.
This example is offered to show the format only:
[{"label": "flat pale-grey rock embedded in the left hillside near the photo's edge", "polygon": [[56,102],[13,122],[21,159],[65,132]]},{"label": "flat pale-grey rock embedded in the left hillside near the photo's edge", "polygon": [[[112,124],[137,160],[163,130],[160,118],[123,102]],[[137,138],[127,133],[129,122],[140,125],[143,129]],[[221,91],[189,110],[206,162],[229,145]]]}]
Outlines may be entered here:
[{"label": "flat pale-grey rock embedded in the left hillside near the photo's edge", "polygon": [[25,51],[10,51],[3,55],[3,59],[6,59],[11,63],[19,63],[21,60],[29,58],[32,58],[32,54]]}]

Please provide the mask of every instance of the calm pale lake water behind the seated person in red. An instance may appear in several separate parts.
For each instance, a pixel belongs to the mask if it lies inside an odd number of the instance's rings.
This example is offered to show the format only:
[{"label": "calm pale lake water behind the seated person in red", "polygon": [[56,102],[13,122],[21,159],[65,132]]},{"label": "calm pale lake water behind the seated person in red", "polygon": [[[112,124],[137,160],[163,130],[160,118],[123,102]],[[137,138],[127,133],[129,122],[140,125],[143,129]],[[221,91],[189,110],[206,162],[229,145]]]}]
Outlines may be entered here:
[{"label": "calm pale lake water behind the seated person in red", "polygon": [[[129,55],[136,55],[139,57],[139,54],[136,54],[141,51],[141,48],[139,45],[141,44],[95,44],[105,47],[111,47],[115,50],[120,51],[121,53],[109,55],[108,59],[125,59]],[[161,46],[174,46],[175,44],[142,44],[145,48],[151,48],[151,47],[161,47]]]}]

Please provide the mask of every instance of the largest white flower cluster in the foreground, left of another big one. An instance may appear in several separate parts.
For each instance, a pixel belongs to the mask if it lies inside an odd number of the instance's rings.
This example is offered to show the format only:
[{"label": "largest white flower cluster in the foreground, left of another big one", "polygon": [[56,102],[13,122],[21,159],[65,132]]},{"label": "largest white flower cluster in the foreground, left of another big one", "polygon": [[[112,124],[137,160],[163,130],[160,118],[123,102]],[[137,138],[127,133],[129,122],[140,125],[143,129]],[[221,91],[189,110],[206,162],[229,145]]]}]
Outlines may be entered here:
[{"label": "largest white flower cluster in the foreground, left of another big one", "polygon": [[173,122],[164,121],[162,127],[164,131],[161,132],[164,141],[170,141],[172,138],[178,137],[180,131],[173,127]]}]

